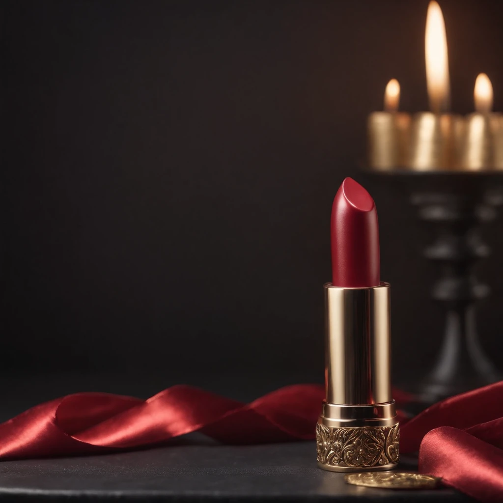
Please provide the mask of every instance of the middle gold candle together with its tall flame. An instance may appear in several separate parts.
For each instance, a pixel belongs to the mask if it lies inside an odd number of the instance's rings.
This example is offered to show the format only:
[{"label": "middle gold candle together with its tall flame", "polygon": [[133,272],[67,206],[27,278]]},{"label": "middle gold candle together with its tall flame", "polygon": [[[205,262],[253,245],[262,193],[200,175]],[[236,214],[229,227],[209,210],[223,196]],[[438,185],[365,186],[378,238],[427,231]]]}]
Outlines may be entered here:
[{"label": "middle gold candle together with its tall flame", "polygon": [[446,113],[450,103],[447,38],[444,17],[435,1],[428,6],[425,56],[431,112],[414,116],[409,165],[418,171],[448,170],[456,165],[462,121]]}]

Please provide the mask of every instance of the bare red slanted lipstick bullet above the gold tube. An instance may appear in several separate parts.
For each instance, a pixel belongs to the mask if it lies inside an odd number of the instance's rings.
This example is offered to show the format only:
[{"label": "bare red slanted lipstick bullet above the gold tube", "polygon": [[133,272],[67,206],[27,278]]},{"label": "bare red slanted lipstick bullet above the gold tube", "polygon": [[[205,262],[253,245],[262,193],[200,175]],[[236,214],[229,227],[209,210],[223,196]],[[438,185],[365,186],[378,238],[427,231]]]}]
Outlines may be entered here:
[{"label": "bare red slanted lipstick bullet above the gold tube", "polygon": [[330,222],[332,285],[345,288],[380,283],[379,224],[372,196],[352,178],[337,191]]}]

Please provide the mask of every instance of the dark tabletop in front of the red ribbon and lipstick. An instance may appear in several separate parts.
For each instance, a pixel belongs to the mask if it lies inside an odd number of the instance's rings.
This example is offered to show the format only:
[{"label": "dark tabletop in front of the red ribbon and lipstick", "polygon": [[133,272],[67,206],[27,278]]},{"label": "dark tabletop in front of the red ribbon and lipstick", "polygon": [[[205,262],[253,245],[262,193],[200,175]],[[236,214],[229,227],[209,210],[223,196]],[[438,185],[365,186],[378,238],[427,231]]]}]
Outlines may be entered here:
[{"label": "dark tabletop in front of the red ribbon and lipstick", "polygon": [[[409,469],[409,467],[405,467]],[[453,489],[357,487],[316,467],[314,442],[174,445],[0,464],[0,500],[469,501]]]}]

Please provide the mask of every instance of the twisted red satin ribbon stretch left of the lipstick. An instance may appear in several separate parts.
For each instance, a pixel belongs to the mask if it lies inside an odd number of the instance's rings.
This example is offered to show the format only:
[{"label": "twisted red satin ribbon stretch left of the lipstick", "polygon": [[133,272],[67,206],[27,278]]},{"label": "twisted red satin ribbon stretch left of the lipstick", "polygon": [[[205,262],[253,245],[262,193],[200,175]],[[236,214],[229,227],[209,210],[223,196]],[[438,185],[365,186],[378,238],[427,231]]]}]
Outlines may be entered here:
[{"label": "twisted red satin ribbon stretch left of the lipstick", "polygon": [[315,384],[287,386],[249,404],[184,385],[147,400],[76,393],[0,425],[0,459],[110,452],[194,431],[225,444],[310,440],[323,397]]}]

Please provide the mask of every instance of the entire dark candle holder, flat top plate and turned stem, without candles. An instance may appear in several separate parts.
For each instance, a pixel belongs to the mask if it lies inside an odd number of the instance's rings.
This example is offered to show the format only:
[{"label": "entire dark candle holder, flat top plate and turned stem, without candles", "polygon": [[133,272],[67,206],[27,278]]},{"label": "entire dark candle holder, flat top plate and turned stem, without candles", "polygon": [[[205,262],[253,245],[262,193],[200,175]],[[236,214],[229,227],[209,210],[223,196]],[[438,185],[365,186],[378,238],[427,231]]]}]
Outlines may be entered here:
[{"label": "entire dark candle holder, flat top plate and turned stem, without candles", "polygon": [[487,297],[489,288],[477,280],[473,266],[490,252],[480,227],[494,219],[503,204],[503,172],[368,173],[399,183],[418,218],[435,230],[424,256],[437,266],[431,295],[444,307],[445,327],[436,363],[414,390],[419,401],[428,405],[498,380],[479,343],[475,316],[475,303]]}]

